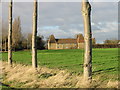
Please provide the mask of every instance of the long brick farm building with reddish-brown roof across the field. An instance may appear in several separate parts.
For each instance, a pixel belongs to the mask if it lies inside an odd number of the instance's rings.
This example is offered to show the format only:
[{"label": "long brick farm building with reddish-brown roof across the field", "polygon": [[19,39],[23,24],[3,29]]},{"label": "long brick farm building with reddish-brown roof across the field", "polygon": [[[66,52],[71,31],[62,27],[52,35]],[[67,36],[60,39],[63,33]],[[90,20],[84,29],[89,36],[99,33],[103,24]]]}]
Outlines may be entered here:
[{"label": "long brick farm building with reddish-brown roof across the field", "polygon": [[48,49],[82,49],[84,48],[84,37],[82,34],[76,38],[56,39],[51,35],[48,40]]}]

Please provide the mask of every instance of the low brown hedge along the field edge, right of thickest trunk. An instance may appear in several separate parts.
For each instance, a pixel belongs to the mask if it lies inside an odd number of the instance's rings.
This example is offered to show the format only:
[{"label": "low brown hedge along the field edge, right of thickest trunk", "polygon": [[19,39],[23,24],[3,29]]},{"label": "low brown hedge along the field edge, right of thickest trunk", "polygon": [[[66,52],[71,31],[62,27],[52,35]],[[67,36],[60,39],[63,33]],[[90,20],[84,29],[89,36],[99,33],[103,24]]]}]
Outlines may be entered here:
[{"label": "low brown hedge along the field edge, right of thickest trunk", "polygon": [[119,48],[119,44],[94,44],[93,48]]}]

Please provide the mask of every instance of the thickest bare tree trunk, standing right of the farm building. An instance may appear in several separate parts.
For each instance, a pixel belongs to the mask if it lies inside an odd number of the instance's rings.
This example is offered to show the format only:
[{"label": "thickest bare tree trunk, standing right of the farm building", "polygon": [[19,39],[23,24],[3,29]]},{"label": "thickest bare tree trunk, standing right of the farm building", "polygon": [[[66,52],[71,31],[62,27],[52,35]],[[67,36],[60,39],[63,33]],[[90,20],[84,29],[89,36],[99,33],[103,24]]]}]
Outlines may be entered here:
[{"label": "thickest bare tree trunk, standing right of the farm building", "polygon": [[92,81],[92,34],[91,34],[91,5],[88,0],[82,0],[82,14],[84,19],[84,79],[86,82]]}]

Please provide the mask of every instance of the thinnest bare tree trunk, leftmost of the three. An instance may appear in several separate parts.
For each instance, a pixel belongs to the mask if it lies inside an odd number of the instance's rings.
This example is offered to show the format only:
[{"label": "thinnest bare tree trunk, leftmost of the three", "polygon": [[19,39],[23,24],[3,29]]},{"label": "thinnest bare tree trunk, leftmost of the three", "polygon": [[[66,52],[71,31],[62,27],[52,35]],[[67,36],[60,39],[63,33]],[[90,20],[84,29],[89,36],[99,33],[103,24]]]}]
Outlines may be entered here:
[{"label": "thinnest bare tree trunk, leftmost of the three", "polygon": [[9,3],[8,64],[12,65],[12,0]]}]

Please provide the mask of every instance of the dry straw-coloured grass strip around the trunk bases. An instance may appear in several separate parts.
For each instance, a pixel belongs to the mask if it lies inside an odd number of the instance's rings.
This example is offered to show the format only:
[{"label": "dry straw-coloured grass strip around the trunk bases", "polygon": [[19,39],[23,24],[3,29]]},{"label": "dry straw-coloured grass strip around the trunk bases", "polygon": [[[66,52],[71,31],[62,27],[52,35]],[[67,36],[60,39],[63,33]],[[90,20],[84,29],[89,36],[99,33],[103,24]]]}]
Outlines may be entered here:
[{"label": "dry straw-coloured grass strip around the trunk bases", "polygon": [[100,88],[100,87],[118,87],[117,82],[103,83],[100,77],[93,79],[91,85],[85,85],[82,76],[73,75],[66,70],[49,69],[38,67],[37,70],[31,66],[13,64],[9,67],[7,62],[0,62],[3,83],[12,87],[25,88]]}]

